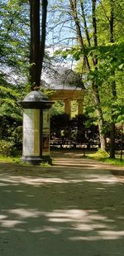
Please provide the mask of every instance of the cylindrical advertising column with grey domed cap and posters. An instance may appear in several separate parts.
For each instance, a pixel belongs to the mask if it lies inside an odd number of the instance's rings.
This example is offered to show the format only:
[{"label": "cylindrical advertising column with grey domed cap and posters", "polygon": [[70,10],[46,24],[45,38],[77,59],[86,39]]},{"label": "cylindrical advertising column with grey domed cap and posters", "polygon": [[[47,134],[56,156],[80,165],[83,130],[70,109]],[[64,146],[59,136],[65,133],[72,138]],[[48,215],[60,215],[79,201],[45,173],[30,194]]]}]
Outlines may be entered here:
[{"label": "cylindrical advertising column with grey domed cap and posters", "polygon": [[20,102],[23,108],[22,162],[51,163],[50,108],[53,102],[41,91],[33,90]]}]

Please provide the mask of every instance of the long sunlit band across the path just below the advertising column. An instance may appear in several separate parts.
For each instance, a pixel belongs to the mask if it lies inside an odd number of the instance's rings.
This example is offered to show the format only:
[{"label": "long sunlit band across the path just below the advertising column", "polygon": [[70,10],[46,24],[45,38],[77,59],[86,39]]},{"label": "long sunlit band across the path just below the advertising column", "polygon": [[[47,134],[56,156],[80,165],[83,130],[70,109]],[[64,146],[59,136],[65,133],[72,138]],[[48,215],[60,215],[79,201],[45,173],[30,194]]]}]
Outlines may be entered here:
[{"label": "long sunlit band across the path just below the advertising column", "polygon": [[[64,177],[60,177],[64,176]],[[17,186],[19,184],[25,184],[30,186],[41,186],[46,184],[68,184],[68,183],[80,183],[80,182],[93,182],[93,183],[99,183],[101,185],[114,185],[117,184],[117,177],[112,176],[111,174],[107,172],[101,172],[101,171],[90,171],[80,169],[79,171],[74,171],[72,169],[72,172],[67,172],[66,170],[62,171],[61,173],[41,173],[39,174],[39,177],[36,177],[36,173],[33,173],[29,176],[24,173],[24,175],[15,174],[7,176],[7,174],[2,174],[0,178],[0,186]],[[100,189],[100,188],[99,188]],[[102,188],[101,188],[102,189]]]}]

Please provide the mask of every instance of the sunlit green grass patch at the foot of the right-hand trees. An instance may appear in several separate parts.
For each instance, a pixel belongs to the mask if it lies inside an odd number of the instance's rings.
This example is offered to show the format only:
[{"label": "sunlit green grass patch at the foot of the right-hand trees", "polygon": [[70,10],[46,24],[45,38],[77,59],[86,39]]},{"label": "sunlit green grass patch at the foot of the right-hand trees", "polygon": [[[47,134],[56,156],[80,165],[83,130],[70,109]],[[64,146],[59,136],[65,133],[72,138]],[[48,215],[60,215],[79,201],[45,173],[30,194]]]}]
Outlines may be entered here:
[{"label": "sunlit green grass patch at the foot of the right-hand trees", "polygon": [[109,154],[103,151],[101,148],[99,148],[97,152],[86,154],[86,157],[92,158],[101,162],[106,162],[107,164],[124,167],[124,159],[122,159],[121,161],[118,155],[115,159],[111,159],[109,158]]}]

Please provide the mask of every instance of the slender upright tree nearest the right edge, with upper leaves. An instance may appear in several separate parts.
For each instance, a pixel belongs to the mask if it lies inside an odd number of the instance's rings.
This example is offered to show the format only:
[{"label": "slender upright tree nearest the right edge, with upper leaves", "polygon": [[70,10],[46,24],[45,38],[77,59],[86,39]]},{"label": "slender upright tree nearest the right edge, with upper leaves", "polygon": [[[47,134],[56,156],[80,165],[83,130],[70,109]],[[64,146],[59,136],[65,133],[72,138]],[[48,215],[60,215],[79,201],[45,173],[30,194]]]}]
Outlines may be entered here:
[{"label": "slender upright tree nearest the right edge, with upper leaves", "polygon": [[[122,2],[114,0],[103,0],[98,6],[98,11],[101,13],[102,22],[99,21],[98,25],[103,30],[102,27],[107,27],[107,36],[104,36],[104,43],[110,43],[111,47],[115,45],[117,41],[122,38],[123,31],[118,29],[118,23],[122,27]],[[105,31],[104,31],[105,32]],[[99,31],[99,35],[101,31]],[[118,44],[119,46],[119,44]],[[113,47],[112,47],[113,51]],[[119,53],[119,51],[118,51]],[[118,58],[121,56],[118,55]],[[107,56],[108,59],[108,56]],[[112,62],[112,59],[114,60]],[[115,63],[117,60],[117,51],[114,52],[113,58],[110,59],[112,68],[109,72],[109,77],[107,78],[108,83],[111,85],[109,94],[111,97],[111,118],[110,118],[110,157],[115,157],[115,131],[116,131],[116,116],[115,116],[115,103],[117,100],[117,68],[115,68]],[[107,72],[107,71],[106,71]],[[111,80],[110,80],[111,78]],[[114,108],[112,106],[114,105]]]}]

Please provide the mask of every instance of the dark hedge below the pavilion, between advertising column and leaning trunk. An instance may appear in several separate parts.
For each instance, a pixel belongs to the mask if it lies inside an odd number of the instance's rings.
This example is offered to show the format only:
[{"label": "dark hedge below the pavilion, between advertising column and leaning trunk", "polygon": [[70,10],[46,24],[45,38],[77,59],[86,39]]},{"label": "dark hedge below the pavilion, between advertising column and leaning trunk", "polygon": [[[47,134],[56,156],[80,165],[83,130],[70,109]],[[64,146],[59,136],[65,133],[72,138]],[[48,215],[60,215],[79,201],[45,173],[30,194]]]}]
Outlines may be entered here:
[{"label": "dark hedge below the pavilion, between advertising column and leaning trunk", "polygon": [[59,114],[51,117],[51,138],[64,142],[70,140],[75,143],[92,145],[99,143],[98,126],[94,125],[94,119],[86,115],[77,115],[69,118],[67,114]]}]

